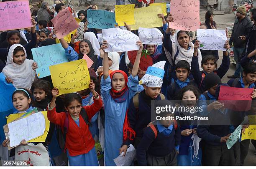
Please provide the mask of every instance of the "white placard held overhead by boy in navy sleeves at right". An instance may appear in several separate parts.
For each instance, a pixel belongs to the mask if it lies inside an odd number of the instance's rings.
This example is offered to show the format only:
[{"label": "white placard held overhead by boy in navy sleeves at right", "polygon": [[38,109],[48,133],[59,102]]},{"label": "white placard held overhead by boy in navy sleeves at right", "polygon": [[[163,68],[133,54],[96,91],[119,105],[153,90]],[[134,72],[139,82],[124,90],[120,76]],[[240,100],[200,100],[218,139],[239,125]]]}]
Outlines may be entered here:
[{"label": "white placard held overhead by boy in navy sleeves at right", "polygon": [[224,45],[227,40],[225,30],[197,29],[197,40],[200,41],[199,49],[226,51]]}]

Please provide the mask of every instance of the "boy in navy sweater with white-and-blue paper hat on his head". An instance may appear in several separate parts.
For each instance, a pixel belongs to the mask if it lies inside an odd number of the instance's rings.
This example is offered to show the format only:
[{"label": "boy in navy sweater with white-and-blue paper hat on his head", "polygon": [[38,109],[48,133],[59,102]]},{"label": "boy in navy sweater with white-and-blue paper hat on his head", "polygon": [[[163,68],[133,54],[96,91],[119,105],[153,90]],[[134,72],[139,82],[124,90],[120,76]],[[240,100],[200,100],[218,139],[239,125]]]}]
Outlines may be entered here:
[{"label": "boy in navy sweater with white-and-blue paper hat on his head", "polygon": [[[129,104],[127,125],[124,125],[124,142],[123,145],[133,144],[137,147],[143,136],[143,129],[151,122],[151,101],[164,100],[164,95],[160,93],[164,76],[164,64],[166,61],[161,61],[149,66],[146,74],[141,78],[140,84],[143,85],[144,90],[134,96]],[[152,74],[150,72],[157,72]],[[152,81],[157,79],[157,81]],[[129,124],[129,125],[128,125]],[[120,153],[126,149],[123,146]]]}]

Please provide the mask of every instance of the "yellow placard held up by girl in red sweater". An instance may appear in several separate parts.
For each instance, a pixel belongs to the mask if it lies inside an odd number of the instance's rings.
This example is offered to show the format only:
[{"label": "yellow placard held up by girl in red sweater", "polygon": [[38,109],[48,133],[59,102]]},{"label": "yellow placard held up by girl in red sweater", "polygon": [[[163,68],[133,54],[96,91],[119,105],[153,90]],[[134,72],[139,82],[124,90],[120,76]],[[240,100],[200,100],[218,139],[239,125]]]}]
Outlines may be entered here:
[{"label": "yellow placard held up by girl in red sweater", "polygon": [[52,83],[59,89],[59,95],[89,88],[91,79],[86,60],[61,63],[50,66],[49,69]]}]

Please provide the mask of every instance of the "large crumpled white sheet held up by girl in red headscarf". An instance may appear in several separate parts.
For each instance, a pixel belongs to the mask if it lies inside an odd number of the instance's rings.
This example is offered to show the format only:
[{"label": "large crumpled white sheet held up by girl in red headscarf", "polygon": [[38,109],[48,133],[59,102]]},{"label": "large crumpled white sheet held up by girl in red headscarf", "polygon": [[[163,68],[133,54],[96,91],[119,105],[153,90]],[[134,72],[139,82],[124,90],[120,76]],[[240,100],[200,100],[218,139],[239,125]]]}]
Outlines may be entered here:
[{"label": "large crumpled white sheet held up by girl in red headscarf", "polygon": [[108,41],[108,48],[105,49],[105,52],[125,52],[140,48],[136,45],[136,42],[140,40],[139,37],[128,30],[102,29],[102,38]]}]

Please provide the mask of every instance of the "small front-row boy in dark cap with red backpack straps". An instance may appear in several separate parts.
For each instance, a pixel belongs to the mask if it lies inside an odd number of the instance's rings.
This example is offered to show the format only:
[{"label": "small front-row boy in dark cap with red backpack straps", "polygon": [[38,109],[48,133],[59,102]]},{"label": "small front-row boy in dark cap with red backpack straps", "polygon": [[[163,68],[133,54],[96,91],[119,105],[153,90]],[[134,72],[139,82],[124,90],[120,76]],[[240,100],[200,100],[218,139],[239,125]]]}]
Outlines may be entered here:
[{"label": "small front-row boy in dark cap with red backpack straps", "polygon": [[[170,105],[169,101],[160,101],[158,106]],[[148,126],[138,144],[136,154],[140,166],[177,166],[177,154],[180,144],[180,128],[170,112],[162,111],[156,125]],[[167,119],[164,119],[167,118]]]}]

